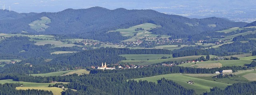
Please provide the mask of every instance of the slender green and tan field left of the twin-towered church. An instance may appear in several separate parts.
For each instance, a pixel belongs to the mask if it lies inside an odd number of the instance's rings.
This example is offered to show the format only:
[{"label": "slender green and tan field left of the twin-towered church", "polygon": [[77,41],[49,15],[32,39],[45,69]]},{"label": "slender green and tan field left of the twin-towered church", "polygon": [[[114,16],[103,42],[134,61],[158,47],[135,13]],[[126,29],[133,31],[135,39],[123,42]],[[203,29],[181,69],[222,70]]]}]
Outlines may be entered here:
[{"label": "slender green and tan field left of the twin-towered church", "polygon": [[73,73],[77,73],[77,74],[82,74],[82,73],[90,73],[90,71],[87,71],[85,69],[79,69],[79,70],[68,70],[68,71],[56,71],[56,72],[52,72],[52,73],[40,73],[40,74],[31,74],[32,76],[61,76],[61,75],[69,75],[69,74],[73,74]]}]

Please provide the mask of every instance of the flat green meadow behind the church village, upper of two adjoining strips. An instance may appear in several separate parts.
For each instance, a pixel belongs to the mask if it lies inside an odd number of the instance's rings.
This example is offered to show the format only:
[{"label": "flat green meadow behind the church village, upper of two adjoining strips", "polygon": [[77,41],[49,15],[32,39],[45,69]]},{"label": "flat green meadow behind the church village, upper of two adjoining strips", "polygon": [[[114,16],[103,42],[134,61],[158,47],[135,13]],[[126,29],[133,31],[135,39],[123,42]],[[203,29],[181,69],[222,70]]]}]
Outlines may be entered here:
[{"label": "flat green meadow behind the church village, upper of two adjoining strips", "polygon": [[124,54],[124,55],[120,55],[122,57],[126,57],[126,59],[131,60],[131,59],[135,59],[135,60],[155,60],[155,59],[161,59],[161,57],[165,56],[165,57],[172,57],[172,55],[170,54]]}]

